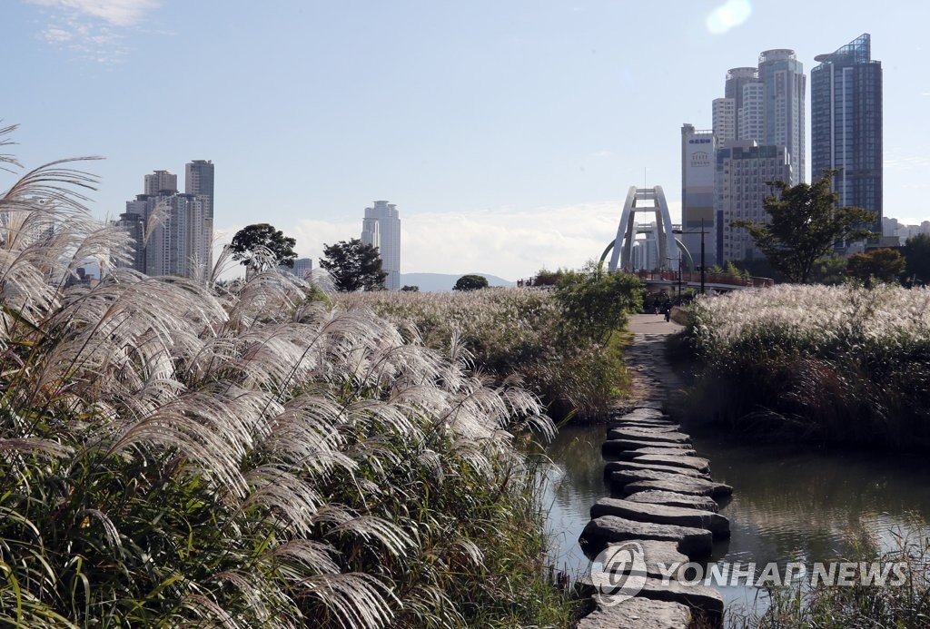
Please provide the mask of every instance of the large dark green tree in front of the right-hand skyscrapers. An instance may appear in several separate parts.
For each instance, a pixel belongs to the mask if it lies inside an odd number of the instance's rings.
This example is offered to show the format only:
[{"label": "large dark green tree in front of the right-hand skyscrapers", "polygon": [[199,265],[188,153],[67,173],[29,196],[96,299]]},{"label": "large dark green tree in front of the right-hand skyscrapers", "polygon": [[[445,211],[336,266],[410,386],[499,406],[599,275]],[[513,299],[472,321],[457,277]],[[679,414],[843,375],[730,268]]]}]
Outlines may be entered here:
[{"label": "large dark green tree in front of the right-hand skyscrapers", "polygon": [[875,220],[874,214],[861,207],[836,206],[840,196],[830,190],[834,174],[830,171],[813,184],[793,187],[784,181],[767,181],[779,192],[763,202],[769,223],[745,219],[730,223],[749,229],[753,242],[788,282],[807,283],[817,258],[829,253],[836,242],[874,236],[862,227]]}]

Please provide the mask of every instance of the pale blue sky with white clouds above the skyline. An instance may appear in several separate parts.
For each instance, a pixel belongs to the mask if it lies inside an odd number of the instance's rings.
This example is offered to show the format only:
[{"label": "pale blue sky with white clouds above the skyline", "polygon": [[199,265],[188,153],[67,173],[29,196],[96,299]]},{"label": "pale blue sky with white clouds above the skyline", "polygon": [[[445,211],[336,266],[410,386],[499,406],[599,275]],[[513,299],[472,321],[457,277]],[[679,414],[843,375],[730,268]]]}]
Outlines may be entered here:
[{"label": "pale blue sky with white clouds above the skyline", "polygon": [[[216,164],[218,244],[250,223],[299,256],[395,203],[401,271],[579,268],[631,186],[681,208],[681,126],[727,70],[871,34],[884,216],[930,219],[930,3],[874,0],[4,0],[2,124],[25,168],[88,155],[114,218],[153,170]],[[810,164],[807,164],[809,178]],[[0,189],[15,177],[0,173]]]}]

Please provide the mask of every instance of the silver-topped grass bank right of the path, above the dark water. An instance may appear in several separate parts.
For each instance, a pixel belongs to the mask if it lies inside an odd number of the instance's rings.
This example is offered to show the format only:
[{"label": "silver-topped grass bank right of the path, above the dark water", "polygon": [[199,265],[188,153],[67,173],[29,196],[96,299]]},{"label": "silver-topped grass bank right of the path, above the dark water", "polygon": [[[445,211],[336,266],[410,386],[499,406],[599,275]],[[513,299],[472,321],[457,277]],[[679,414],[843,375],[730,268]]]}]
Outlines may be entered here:
[{"label": "silver-topped grass bank right of the path, above the dark water", "polygon": [[692,408],[736,429],[930,445],[930,289],[779,285],[699,299]]}]

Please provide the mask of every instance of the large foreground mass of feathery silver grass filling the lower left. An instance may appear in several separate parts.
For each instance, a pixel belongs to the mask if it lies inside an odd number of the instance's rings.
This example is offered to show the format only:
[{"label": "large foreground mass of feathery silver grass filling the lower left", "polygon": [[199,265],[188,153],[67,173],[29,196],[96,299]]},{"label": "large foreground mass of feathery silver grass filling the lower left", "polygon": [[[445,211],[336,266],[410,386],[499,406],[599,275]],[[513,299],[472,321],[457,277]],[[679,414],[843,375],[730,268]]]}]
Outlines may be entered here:
[{"label": "large foreground mass of feathery silver grass filling the lower left", "polygon": [[0,195],[4,623],[567,622],[516,443],[551,435],[535,396],[273,272],[116,269],[95,183],[53,163]]}]

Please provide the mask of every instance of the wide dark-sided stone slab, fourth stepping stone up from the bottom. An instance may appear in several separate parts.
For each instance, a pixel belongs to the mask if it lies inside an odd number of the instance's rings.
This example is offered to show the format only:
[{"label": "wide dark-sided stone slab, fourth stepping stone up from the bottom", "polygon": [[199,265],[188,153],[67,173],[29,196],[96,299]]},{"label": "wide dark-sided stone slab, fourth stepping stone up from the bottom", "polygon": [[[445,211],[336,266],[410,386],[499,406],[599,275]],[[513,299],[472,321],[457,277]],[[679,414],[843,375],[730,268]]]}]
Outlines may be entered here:
[{"label": "wide dark-sided stone slab, fourth stepping stone up from the bottom", "polygon": [[617,516],[601,516],[592,519],[585,525],[584,531],[581,531],[578,544],[581,545],[585,555],[596,557],[611,542],[631,540],[674,542],[679,552],[692,558],[709,556],[713,546],[711,531],[674,524],[636,522]]}]

